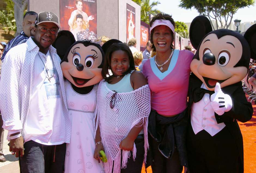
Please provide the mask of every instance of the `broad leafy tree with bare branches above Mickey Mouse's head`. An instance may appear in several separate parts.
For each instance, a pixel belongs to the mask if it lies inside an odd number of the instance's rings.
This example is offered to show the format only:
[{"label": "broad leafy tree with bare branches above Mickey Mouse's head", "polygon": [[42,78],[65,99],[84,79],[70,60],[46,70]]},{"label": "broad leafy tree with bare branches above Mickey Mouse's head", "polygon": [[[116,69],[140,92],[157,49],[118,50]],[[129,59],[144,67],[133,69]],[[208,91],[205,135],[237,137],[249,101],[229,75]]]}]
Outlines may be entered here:
[{"label": "broad leafy tree with bare branches above Mickey Mouse's head", "polygon": [[195,8],[200,15],[208,17],[210,21],[215,20],[217,28],[211,21],[214,30],[227,29],[239,8],[254,5],[254,0],[181,0],[180,2],[179,7]]}]

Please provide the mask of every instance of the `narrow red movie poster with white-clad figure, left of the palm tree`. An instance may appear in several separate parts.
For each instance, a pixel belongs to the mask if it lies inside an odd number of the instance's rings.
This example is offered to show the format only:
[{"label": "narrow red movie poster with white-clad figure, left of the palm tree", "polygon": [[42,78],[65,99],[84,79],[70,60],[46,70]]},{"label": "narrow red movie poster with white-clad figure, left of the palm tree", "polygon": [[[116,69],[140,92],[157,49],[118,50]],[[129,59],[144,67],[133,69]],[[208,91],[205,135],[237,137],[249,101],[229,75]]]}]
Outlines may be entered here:
[{"label": "narrow red movie poster with white-clad figure, left of the palm tree", "polygon": [[126,4],[126,38],[127,43],[135,38],[135,8]]}]

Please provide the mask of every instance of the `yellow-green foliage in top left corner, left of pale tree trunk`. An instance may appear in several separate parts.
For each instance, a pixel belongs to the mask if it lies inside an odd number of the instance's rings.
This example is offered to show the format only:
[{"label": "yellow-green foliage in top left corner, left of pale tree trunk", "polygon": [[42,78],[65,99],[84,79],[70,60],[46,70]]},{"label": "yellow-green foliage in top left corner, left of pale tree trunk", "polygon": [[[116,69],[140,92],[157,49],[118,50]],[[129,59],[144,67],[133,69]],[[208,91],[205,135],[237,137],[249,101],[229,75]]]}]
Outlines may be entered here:
[{"label": "yellow-green foliage in top left corner, left of pale tree trunk", "polygon": [[0,23],[5,24],[9,31],[16,31],[16,23],[14,19],[14,3],[11,0],[5,0],[7,3],[6,10],[0,10]]}]

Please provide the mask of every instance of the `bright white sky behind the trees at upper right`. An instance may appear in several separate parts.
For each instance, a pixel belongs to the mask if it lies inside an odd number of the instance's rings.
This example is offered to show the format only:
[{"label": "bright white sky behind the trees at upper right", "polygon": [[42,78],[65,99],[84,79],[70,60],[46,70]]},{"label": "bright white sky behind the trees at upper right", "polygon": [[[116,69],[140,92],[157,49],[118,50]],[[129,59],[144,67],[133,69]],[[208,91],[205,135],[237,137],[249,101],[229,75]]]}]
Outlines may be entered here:
[{"label": "bright white sky behind the trees at upper right", "polygon": [[[150,2],[153,2],[153,0],[150,0]],[[183,8],[179,8],[179,0],[159,0],[159,2],[161,4],[157,5],[157,9],[161,12],[172,14],[175,21],[187,23],[191,22],[193,18],[199,15],[195,9],[185,10]],[[241,20],[241,23],[256,21],[256,5],[239,9],[236,14],[234,14],[232,20],[235,20],[236,18]]]}]

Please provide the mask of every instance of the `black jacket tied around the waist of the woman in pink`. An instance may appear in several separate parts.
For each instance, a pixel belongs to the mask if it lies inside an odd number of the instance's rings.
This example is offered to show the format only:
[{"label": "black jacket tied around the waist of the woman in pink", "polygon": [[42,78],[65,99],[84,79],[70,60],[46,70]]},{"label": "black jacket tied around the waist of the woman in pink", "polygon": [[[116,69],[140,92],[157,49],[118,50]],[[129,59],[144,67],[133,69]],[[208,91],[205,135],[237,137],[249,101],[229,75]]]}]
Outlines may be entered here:
[{"label": "black jacket tied around the waist of the woman in pink", "polygon": [[159,151],[166,158],[171,158],[175,146],[181,165],[188,166],[185,138],[188,124],[187,109],[175,117],[163,117],[152,110],[148,119],[148,132],[158,142]]}]

